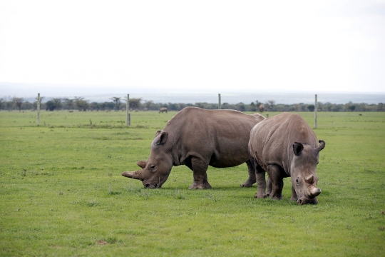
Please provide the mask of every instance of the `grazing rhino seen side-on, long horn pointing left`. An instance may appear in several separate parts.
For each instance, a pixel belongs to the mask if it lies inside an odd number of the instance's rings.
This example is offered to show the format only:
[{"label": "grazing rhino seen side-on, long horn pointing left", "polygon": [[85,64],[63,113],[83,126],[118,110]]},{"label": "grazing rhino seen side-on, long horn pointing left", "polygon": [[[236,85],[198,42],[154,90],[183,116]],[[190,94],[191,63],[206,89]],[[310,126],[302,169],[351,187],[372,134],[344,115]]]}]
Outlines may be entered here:
[{"label": "grazing rhino seen side-on, long horn pointing left", "polygon": [[260,114],[247,115],[234,110],[205,110],[186,107],[155,134],[147,161],[138,161],[140,170],[122,176],[140,179],[147,188],[160,188],[173,166],[185,165],[193,171],[190,188],[211,188],[207,168],[233,167],[247,163],[249,178],[242,186],[255,183],[247,151],[250,131],[264,120]]}]

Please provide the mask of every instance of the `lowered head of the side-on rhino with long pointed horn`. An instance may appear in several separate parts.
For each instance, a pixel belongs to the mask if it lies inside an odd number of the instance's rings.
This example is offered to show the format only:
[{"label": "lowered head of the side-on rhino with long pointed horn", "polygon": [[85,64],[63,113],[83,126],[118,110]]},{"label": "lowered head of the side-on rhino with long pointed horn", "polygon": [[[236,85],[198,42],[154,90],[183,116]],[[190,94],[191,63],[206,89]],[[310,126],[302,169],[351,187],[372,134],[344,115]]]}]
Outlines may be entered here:
[{"label": "lowered head of the side-on rhino with long pointed horn", "polygon": [[147,161],[138,161],[138,171],[124,171],[122,176],[139,179],[146,188],[160,188],[173,168],[173,157],[167,143],[168,132],[158,131],[151,143],[151,153]]}]

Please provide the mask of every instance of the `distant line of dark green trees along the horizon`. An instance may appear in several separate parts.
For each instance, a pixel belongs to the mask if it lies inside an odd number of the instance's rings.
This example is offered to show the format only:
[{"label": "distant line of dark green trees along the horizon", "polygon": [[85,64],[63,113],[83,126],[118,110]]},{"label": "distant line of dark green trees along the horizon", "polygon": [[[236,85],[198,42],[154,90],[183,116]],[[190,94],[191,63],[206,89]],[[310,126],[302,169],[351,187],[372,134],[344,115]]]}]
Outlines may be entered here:
[{"label": "distant line of dark green trees along the horizon", "polygon": [[[1,98],[0,110],[6,111],[24,111],[24,110],[36,110],[36,101],[29,102],[22,97],[13,98]],[[58,111],[58,110],[78,110],[78,111],[120,111],[125,110],[126,100],[117,96],[111,98],[111,101],[105,102],[91,102],[84,99],[81,96],[75,96],[72,99],[69,98],[52,98],[48,101],[44,101],[44,97],[41,98],[41,110],[46,111]],[[274,100],[266,101],[262,103],[260,101],[253,101],[250,104],[244,104],[242,102],[238,104],[221,104],[221,109],[234,109],[238,111],[259,111],[260,106],[264,106],[265,111],[314,111],[314,104],[276,104]],[[196,106],[202,109],[218,109],[218,104],[197,102],[195,104],[183,104],[183,103],[155,103],[154,101],[142,100],[141,98],[133,98],[129,100],[129,108],[133,111],[151,111],[159,110],[162,107],[166,107],[169,111],[180,111],[187,106]],[[347,104],[332,104],[329,102],[317,104],[318,111],[385,111],[383,103],[379,104],[366,104],[366,103],[352,103],[349,101]]]}]

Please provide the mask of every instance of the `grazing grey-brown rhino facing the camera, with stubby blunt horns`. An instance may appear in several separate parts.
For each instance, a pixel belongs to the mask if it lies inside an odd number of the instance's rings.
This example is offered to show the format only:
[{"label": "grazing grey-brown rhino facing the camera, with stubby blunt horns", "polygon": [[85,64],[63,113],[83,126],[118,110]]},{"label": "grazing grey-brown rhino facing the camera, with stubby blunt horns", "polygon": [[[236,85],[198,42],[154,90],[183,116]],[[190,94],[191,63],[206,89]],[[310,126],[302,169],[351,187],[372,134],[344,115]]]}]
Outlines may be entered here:
[{"label": "grazing grey-brown rhino facing the camera, with stubby blunt horns", "polygon": [[[318,143],[320,143],[318,145]],[[255,125],[250,132],[249,153],[255,167],[258,191],[255,197],[282,198],[283,178],[292,177],[292,200],[317,204],[316,168],[319,151],[325,147],[298,114],[282,113]],[[267,191],[265,171],[267,178]]]}]

